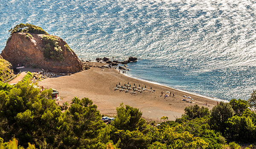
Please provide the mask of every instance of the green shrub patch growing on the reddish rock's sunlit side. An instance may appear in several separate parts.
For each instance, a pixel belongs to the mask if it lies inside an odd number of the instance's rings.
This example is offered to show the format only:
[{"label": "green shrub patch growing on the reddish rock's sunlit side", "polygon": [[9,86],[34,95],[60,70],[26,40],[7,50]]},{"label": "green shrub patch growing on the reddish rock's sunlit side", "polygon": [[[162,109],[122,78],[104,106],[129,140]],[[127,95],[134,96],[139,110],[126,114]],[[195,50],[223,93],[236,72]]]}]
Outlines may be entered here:
[{"label": "green shrub patch growing on the reddish rock's sunlit side", "polygon": [[44,43],[44,57],[49,60],[64,60],[61,46],[58,45],[58,40],[54,36],[44,35],[42,37]]}]

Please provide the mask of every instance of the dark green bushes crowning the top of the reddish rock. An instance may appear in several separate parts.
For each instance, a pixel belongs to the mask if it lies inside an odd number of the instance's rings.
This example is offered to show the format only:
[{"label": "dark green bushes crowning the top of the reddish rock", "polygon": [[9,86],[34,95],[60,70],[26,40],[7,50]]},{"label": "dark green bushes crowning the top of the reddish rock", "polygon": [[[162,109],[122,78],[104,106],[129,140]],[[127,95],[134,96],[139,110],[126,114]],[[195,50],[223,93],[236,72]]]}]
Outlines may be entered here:
[{"label": "dark green bushes crowning the top of the reddish rock", "polygon": [[11,34],[17,33],[17,32],[28,32],[28,33],[34,33],[34,34],[48,34],[47,32],[44,31],[41,27],[26,23],[20,23],[16,25],[13,29],[10,29],[9,32]]}]

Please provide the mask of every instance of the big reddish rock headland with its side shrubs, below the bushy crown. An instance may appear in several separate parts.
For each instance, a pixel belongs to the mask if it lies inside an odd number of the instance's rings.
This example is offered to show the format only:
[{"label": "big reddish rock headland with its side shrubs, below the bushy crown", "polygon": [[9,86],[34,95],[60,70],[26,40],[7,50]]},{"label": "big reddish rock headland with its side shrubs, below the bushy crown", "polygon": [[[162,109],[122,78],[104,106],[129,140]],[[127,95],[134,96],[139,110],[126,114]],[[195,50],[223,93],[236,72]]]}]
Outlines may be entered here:
[{"label": "big reddish rock headland with its side shrubs, below the bushy crown", "polygon": [[67,43],[52,35],[12,33],[1,56],[13,67],[36,67],[61,73],[75,73],[83,69],[82,62]]}]

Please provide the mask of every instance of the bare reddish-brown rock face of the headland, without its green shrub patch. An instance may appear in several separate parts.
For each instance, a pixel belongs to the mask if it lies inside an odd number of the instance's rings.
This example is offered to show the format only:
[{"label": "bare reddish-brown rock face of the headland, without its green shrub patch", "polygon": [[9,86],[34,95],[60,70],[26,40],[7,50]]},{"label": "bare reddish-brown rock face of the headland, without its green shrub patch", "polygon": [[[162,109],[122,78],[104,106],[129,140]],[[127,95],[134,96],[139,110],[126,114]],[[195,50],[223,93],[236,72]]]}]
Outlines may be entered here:
[{"label": "bare reddish-brown rock face of the headland, without its green shrub patch", "polygon": [[50,72],[61,73],[75,73],[82,70],[82,62],[73,51],[64,46],[67,43],[60,37],[55,36],[62,49],[64,60],[55,61],[44,58],[44,45],[41,40],[44,34],[29,34],[32,38],[25,37],[26,33],[12,34],[1,53],[1,56],[12,63],[13,67],[35,66]]}]

